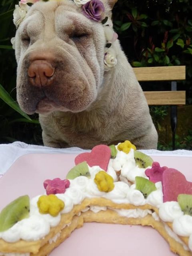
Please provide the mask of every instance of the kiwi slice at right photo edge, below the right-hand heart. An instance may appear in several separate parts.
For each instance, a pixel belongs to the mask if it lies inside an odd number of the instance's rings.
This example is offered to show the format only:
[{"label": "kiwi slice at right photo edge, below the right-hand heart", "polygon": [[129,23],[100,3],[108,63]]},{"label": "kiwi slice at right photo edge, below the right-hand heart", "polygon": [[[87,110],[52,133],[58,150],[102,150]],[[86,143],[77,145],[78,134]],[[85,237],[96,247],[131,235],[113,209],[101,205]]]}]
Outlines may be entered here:
[{"label": "kiwi slice at right photo edge, below the right-hand heart", "polygon": [[180,194],[177,197],[177,201],[184,214],[192,216],[192,195]]}]

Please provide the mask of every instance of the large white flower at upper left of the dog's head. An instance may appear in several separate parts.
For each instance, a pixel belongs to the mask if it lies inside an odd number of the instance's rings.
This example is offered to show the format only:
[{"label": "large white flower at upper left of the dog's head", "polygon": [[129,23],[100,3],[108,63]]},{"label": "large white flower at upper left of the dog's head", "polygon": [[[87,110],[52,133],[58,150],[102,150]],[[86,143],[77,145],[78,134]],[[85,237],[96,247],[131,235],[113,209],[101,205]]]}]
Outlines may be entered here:
[{"label": "large white flower at upper left of the dog's head", "polygon": [[13,12],[13,23],[15,24],[16,28],[18,28],[22,20],[24,20],[29,8],[30,7],[27,4],[22,4],[21,2],[19,2],[19,5],[15,5],[15,10]]}]

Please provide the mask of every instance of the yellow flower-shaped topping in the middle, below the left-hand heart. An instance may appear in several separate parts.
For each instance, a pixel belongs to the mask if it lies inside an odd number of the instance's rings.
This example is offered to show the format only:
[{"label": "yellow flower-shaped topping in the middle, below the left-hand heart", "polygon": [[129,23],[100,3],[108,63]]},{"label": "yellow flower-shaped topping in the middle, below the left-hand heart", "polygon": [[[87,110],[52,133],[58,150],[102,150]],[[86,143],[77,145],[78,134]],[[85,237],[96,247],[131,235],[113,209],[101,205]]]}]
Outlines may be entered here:
[{"label": "yellow flower-shaped topping in the middle, below the left-hand heart", "polygon": [[100,191],[110,192],[114,189],[114,180],[105,171],[98,172],[95,175],[94,182]]}]

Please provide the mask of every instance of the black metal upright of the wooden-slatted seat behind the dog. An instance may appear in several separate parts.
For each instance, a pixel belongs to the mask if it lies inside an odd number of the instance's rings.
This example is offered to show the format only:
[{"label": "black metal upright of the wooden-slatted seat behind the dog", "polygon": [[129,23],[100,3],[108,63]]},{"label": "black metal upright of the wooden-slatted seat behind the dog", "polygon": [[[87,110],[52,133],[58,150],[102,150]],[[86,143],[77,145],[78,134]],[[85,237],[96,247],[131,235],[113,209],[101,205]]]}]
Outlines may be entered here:
[{"label": "black metal upright of the wooden-slatted seat behind the dog", "polygon": [[[177,90],[177,82],[171,82],[171,90]],[[177,128],[177,106],[171,106],[171,130],[172,130],[172,150],[175,150],[175,133]]]}]

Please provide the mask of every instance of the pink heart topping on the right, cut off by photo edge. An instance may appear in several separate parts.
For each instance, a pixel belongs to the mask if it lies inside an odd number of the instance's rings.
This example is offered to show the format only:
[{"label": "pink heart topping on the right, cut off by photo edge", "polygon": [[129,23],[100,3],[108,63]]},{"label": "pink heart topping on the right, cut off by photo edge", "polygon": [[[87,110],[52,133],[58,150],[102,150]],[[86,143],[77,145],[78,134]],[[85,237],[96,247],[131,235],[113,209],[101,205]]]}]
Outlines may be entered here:
[{"label": "pink heart topping on the right, cut off by photo edge", "polygon": [[179,194],[192,194],[192,182],[184,174],[173,168],[167,168],[162,175],[164,202],[177,201]]}]

